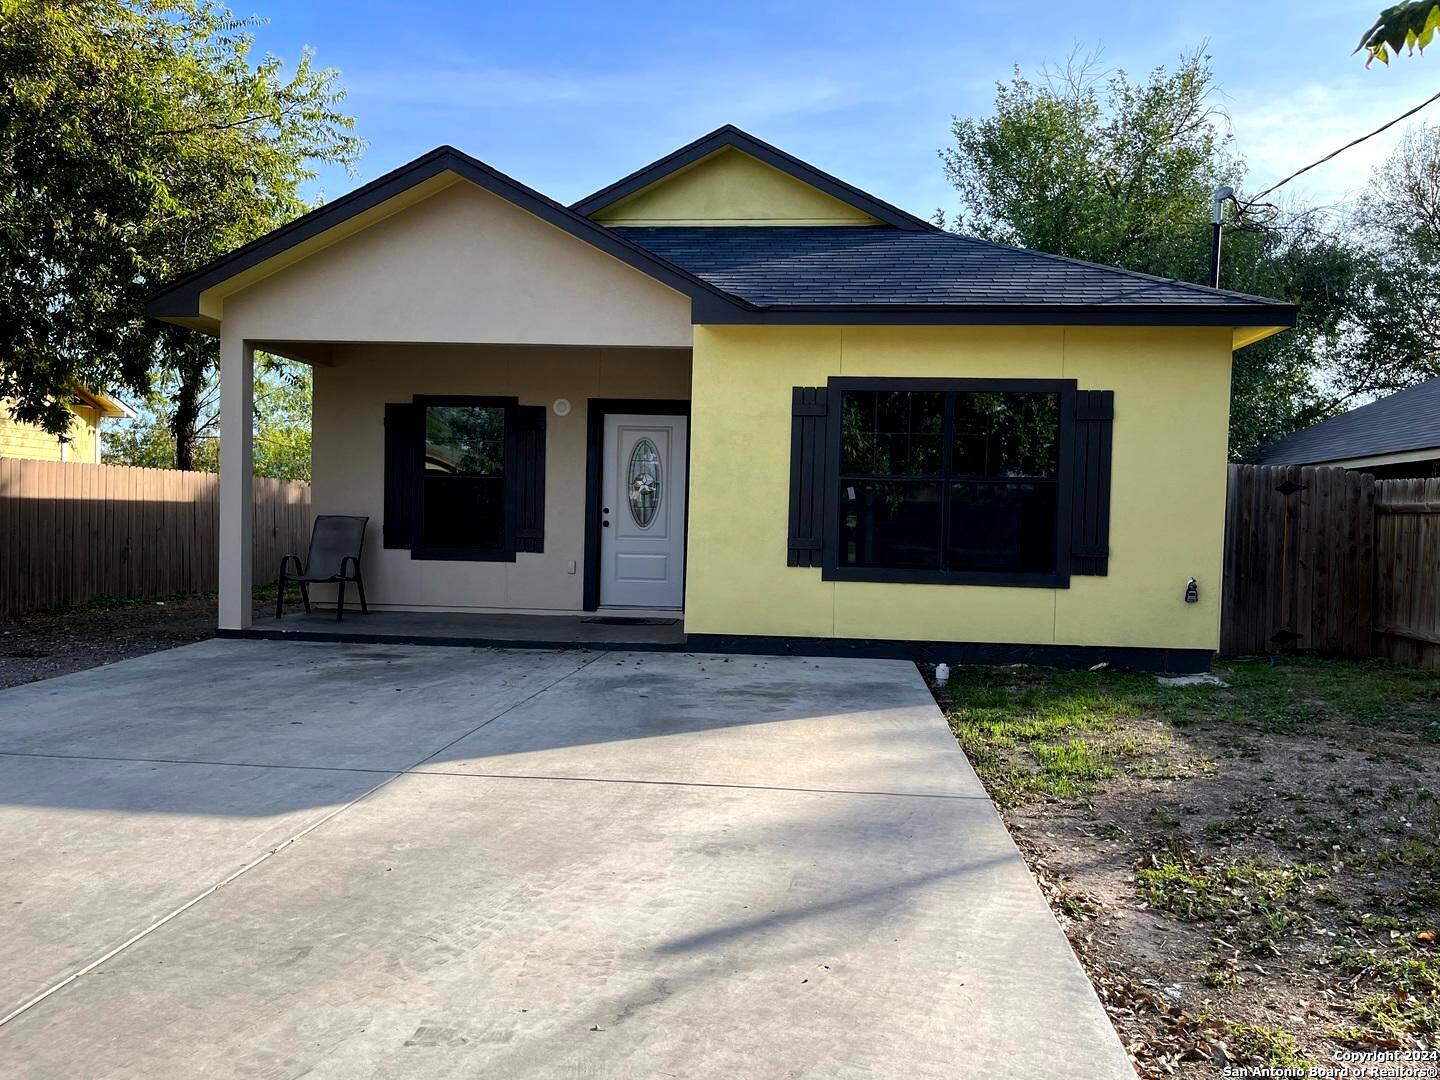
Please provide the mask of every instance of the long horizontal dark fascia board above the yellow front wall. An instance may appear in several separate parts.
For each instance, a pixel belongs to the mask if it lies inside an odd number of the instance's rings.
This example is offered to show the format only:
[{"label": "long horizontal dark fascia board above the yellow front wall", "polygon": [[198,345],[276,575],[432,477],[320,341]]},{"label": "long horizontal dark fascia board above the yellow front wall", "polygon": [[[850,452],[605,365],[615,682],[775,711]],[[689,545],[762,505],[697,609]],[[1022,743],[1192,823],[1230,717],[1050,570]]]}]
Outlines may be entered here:
[{"label": "long horizontal dark fascia board above the yellow front wall", "polygon": [[776,304],[730,311],[696,304],[696,323],[788,325],[1293,327],[1299,308],[1200,304]]}]

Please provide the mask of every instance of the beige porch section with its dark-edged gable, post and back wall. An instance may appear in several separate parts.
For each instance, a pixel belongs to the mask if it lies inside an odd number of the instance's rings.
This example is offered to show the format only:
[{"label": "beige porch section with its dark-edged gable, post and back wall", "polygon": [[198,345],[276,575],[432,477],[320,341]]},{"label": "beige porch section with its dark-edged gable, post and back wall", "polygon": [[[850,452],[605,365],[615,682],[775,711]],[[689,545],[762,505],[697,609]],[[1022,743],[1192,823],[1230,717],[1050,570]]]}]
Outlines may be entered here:
[{"label": "beige porch section with its dark-edged gable, post and back wall", "polygon": [[[372,611],[613,603],[605,419],[670,418],[672,505],[687,491],[694,282],[652,262],[442,151],[177,282],[153,312],[220,337],[220,628],[251,625],[251,588],[275,570],[251,566],[258,351],[314,366],[312,505],[369,518]],[[684,516],[662,524],[678,560],[649,567],[668,592],[636,586],[619,606],[683,606]]]}]

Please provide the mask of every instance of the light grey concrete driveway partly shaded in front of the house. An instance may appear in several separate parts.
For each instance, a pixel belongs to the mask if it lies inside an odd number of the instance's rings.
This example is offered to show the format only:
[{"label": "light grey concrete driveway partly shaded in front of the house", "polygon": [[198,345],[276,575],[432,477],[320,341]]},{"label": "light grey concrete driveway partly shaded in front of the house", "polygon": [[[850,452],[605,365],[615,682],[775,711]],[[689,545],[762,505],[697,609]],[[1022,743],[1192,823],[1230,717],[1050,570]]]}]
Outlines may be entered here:
[{"label": "light grey concrete driveway partly shaded in front of the house", "polygon": [[909,664],[213,641],[0,691],[0,1076],[1133,1076]]}]

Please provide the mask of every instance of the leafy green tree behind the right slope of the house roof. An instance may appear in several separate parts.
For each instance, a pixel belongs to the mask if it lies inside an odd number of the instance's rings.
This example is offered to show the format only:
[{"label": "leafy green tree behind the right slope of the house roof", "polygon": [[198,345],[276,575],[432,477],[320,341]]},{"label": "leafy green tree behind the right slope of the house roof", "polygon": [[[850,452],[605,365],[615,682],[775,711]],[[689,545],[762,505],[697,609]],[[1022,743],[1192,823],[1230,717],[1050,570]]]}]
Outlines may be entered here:
[{"label": "leafy green tree behind the right slope of the house roof", "polygon": [[[1244,163],[1214,104],[1210,58],[1132,81],[1071,60],[1034,82],[1018,69],[995,111],[956,118],[940,151],[960,196],[956,226],[986,239],[1208,282],[1211,193]],[[1277,213],[1228,235],[1223,284],[1300,304],[1296,328],[1236,354],[1231,451],[1320,419],[1319,356],[1341,334],[1356,256],[1313,213]]]}]

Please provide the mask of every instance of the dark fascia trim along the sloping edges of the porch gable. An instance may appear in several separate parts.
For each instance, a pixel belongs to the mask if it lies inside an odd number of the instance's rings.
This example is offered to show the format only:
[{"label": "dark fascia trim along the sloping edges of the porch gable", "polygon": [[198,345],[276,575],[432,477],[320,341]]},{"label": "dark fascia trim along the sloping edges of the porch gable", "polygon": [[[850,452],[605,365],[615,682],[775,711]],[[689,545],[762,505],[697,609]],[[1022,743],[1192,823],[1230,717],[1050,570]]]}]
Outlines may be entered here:
[{"label": "dark fascia trim along the sloping edges of the porch gable", "polygon": [[648,274],[670,288],[688,295],[693,301],[704,301],[707,310],[740,314],[750,304],[710,285],[671,262],[652,255],[624,236],[596,225],[589,217],[570,210],[549,196],[536,192],[518,180],[491,168],[484,161],[454,147],[436,147],[409,164],[386,173],[354,192],[325,203],[288,225],[261,236],[243,248],[193,271],[154,292],[145,305],[151,318],[196,318],[200,314],[200,294],[228,278],[275,258],[287,248],[318,236],[356,215],[376,207],[395,196],[415,187],[441,173],[455,173],[491,194],[528,210],[541,220],[576,236],[606,255]]}]

